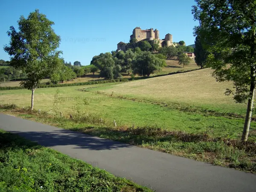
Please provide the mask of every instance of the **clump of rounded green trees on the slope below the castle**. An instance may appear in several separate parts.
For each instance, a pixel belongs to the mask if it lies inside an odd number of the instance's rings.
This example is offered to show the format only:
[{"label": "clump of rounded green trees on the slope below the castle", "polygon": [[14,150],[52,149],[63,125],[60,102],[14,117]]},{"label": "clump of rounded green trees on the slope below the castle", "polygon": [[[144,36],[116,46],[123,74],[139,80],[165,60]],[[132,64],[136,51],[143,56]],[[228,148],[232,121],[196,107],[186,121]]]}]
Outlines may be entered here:
[{"label": "clump of rounded green trees on the slope below the castle", "polygon": [[121,73],[150,76],[160,67],[166,66],[166,57],[157,56],[139,47],[123,51],[101,53],[93,57],[91,65],[99,68],[100,76],[106,79],[121,78]]}]

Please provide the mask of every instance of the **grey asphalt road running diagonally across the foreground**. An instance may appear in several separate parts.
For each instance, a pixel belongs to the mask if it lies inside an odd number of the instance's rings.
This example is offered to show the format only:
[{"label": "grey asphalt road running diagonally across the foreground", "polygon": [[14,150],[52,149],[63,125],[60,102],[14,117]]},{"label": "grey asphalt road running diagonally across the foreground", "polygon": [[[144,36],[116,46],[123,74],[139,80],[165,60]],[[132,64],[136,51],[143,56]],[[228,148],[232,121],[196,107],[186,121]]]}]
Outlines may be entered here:
[{"label": "grey asphalt road running diagonally across the foreground", "polygon": [[0,128],[157,192],[256,192],[256,175],[0,113]]}]

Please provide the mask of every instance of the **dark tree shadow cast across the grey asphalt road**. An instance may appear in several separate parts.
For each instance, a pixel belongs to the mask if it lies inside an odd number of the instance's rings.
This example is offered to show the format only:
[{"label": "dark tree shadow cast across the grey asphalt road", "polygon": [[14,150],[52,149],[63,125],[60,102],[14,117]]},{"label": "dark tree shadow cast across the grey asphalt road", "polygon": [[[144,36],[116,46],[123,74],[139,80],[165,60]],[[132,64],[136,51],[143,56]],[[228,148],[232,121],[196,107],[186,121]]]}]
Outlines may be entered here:
[{"label": "dark tree shadow cast across the grey asphalt road", "polygon": [[29,132],[11,131],[11,133],[19,134],[21,137],[35,141],[38,144],[47,147],[74,145],[73,148],[86,148],[90,150],[111,150],[131,147],[131,145],[125,143],[93,137],[81,132],[65,129]]}]

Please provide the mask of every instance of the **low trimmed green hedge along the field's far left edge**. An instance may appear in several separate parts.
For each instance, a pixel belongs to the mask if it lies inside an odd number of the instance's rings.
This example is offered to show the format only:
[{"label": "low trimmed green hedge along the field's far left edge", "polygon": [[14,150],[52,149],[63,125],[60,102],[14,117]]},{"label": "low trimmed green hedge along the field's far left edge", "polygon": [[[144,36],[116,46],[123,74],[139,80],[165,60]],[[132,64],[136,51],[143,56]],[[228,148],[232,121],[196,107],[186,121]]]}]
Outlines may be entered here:
[{"label": "low trimmed green hedge along the field's far left edge", "polygon": [[[102,81],[87,81],[81,83],[70,83],[70,84],[41,84],[37,88],[47,88],[47,87],[69,87],[69,86],[79,86],[79,85],[88,85],[88,84],[102,84],[102,83],[114,83],[114,82],[125,82],[129,79],[111,79],[111,80],[102,80]],[[24,87],[0,87],[0,90],[17,90],[25,89]]]}]

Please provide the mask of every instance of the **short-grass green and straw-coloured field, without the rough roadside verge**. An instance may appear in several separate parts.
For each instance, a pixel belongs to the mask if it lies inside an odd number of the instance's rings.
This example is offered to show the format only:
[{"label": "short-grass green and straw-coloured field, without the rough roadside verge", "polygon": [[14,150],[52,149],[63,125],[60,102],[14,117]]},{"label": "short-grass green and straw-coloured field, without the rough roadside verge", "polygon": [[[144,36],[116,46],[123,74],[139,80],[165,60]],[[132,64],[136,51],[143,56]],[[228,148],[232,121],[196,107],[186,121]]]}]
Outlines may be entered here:
[{"label": "short-grass green and straw-coloured field, without the rough roadside verge", "polygon": [[[244,114],[246,105],[236,104],[232,97],[224,95],[228,85],[231,84],[216,82],[210,76],[209,69],[205,69],[125,83],[41,88],[35,90],[35,109],[54,111],[54,95],[58,89],[64,99],[59,108],[66,115],[75,113],[73,109],[78,103],[76,97],[80,96],[89,102],[86,107],[80,105],[81,111],[97,114],[109,121],[116,120],[118,125],[131,126],[135,123],[136,126],[158,126],[190,133],[211,130],[215,136],[239,138],[244,119],[173,108],[177,104],[178,107]],[[81,89],[86,91],[79,91]],[[122,99],[122,96],[127,96],[127,99]],[[0,91],[1,103],[26,107],[30,101],[29,90]],[[169,105],[164,107],[154,102],[166,102]],[[256,130],[256,122],[252,122],[251,130]],[[255,135],[251,134],[249,138],[254,139]]]}]

